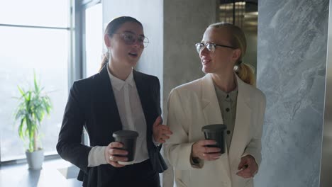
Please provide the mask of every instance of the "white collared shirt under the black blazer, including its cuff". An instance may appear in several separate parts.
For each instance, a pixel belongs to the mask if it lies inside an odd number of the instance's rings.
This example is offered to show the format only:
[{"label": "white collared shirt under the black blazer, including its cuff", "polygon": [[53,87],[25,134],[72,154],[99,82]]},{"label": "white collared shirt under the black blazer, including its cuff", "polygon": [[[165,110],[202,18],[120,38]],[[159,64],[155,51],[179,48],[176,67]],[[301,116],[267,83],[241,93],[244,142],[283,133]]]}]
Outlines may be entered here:
[{"label": "white collared shirt under the black blazer, including its cuff", "polygon": [[[146,121],[143,113],[142,104],[133,79],[133,71],[125,81],[114,77],[107,68],[112,84],[116,106],[120,115],[123,130],[135,130],[139,136],[136,142],[134,163],[143,162],[149,158],[148,147],[146,144]],[[104,156],[106,146],[92,147],[89,152],[88,166],[99,166],[107,164]]]}]

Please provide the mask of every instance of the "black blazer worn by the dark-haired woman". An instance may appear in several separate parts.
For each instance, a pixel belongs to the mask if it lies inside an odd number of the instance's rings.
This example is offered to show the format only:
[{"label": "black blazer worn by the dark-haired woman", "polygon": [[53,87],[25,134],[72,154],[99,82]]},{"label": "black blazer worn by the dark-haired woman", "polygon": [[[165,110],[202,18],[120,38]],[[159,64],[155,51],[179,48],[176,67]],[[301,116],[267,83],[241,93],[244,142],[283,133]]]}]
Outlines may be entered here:
[{"label": "black blazer worn by the dark-haired woman", "polygon": [[[57,142],[62,159],[79,167],[77,179],[83,186],[107,186],[116,168],[110,164],[88,167],[88,155],[94,146],[114,142],[113,132],[122,129],[111,81],[105,66],[99,74],[75,81],[65,108]],[[153,169],[159,173],[167,169],[160,148],[153,144],[153,123],[161,114],[160,83],[157,77],[133,71],[133,78],[147,123],[147,146]],[[90,146],[81,144],[83,126],[87,129]]]}]

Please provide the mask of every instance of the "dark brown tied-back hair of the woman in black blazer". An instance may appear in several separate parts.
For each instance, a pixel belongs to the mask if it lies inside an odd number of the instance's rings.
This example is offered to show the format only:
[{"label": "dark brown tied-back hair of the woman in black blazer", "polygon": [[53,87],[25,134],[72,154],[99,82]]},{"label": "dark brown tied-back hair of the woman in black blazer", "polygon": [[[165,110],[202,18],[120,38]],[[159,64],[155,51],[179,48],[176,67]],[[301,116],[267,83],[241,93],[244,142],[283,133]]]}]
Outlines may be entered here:
[{"label": "dark brown tied-back hair of the woman in black blazer", "polygon": [[[118,30],[118,28],[120,28],[123,25],[123,23],[126,22],[138,23],[143,28],[142,23],[140,23],[140,21],[138,21],[137,19],[130,16],[121,16],[118,18],[114,18],[111,22],[109,22],[109,24],[107,24],[104,32],[105,35],[108,35],[110,38],[113,37],[114,33],[116,33],[116,30]],[[107,64],[107,62],[109,62],[109,52],[106,52],[106,54],[104,54],[103,60],[101,61],[99,72],[101,71],[101,69],[103,69],[103,67],[105,66],[105,64]]]}]

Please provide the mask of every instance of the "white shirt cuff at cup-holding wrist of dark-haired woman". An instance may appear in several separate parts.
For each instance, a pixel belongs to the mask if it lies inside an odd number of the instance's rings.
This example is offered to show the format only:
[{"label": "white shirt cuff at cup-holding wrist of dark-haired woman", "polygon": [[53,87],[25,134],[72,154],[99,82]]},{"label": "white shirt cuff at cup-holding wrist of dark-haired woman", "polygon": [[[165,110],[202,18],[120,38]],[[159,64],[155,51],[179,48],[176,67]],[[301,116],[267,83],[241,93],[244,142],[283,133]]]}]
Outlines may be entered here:
[{"label": "white shirt cuff at cup-holding wrist of dark-haired woman", "polygon": [[106,146],[95,146],[89,152],[88,167],[99,166],[101,164],[107,164],[105,159]]}]

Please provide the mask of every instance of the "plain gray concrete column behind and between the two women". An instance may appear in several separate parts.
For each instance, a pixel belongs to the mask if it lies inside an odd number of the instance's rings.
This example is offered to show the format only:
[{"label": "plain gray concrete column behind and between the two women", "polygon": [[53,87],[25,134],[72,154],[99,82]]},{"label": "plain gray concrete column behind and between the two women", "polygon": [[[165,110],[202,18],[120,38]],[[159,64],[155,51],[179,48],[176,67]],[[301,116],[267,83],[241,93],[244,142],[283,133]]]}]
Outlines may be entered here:
[{"label": "plain gray concrete column behind and between the two women", "polygon": [[[216,0],[164,1],[164,115],[173,88],[204,76],[195,43],[201,41],[207,26],[216,22],[217,5]],[[163,187],[173,186],[172,168],[163,173],[162,179]]]}]

